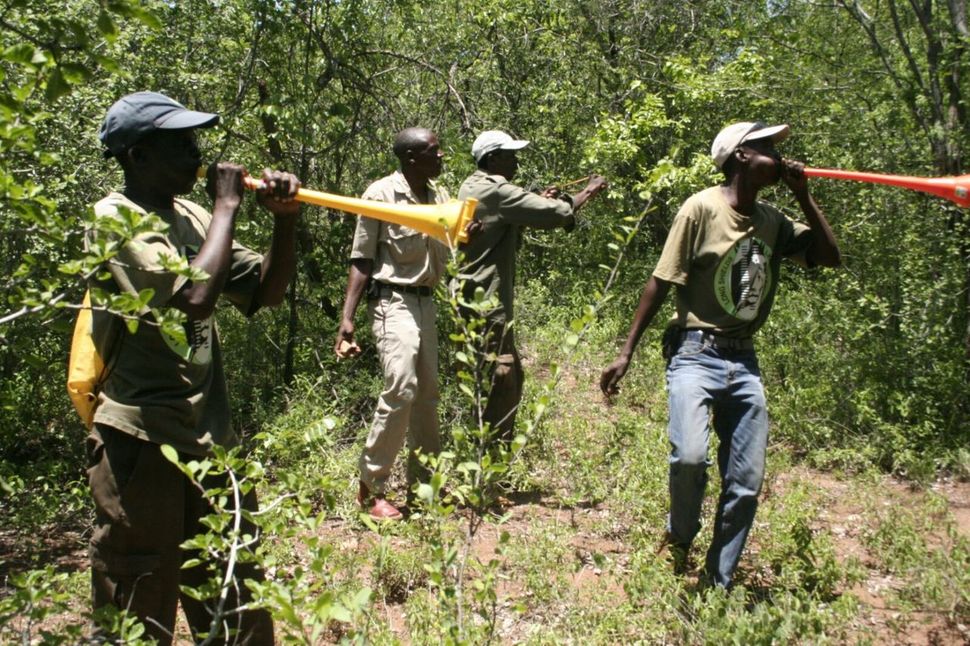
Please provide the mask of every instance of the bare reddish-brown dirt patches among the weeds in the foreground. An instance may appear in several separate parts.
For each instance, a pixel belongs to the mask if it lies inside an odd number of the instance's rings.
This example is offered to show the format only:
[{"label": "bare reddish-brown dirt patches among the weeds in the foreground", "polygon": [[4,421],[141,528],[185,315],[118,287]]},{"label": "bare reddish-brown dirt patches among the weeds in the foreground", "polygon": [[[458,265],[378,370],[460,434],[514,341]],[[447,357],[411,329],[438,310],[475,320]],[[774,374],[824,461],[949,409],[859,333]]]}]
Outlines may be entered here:
[{"label": "bare reddish-brown dirt patches among the weeds in the foreground", "polygon": [[[858,636],[874,643],[892,644],[970,644],[970,629],[954,624],[943,613],[907,609],[900,603],[898,592],[904,581],[898,574],[885,571],[877,555],[866,546],[864,534],[874,513],[880,510],[903,509],[918,511],[933,504],[944,510],[956,528],[956,533],[970,539],[970,483],[941,479],[925,491],[914,491],[905,483],[882,477],[868,491],[878,491],[878,497],[861,497],[853,480],[832,474],[794,467],[780,473],[769,482],[766,495],[781,496],[791,486],[810,482],[820,501],[816,532],[828,534],[841,562],[854,559],[865,570],[864,579],[845,592],[860,602]],[[935,501],[935,502],[934,502]],[[568,506],[554,497],[524,496],[507,501],[504,511],[508,519],[502,525],[486,524],[472,545],[473,554],[488,560],[496,553],[500,532],[508,532],[513,540],[528,537],[530,532],[556,531],[568,535],[568,549],[562,554],[562,570],[574,599],[584,594],[598,604],[619,605],[625,601],[623,576],[626,564],[633,556],[631,547],[622,540],[622,532],[612,536],[603,530],[604,523],[615,515],[607,503],[593,506]],[[322,534],[338,550],[361,552],[372,545],[373,534],[362,530],[355,522],[334,518],[325,523]],[[950,540],[942,530],[930,530],[928,545],[940,546]],[[751,546],[757,550],[757,545]],[[604,566],[604,558],[609,566]],[[40,532],[23,540],[11,530],[0,530],[0,596],[9,592],[6,586],[12,572],[51,565],[61,572],[83,572],[86,568],[84,536],[75,529]],[[367,572],[357,576],[368,577]],[[418,582],[420,583],[420,582]],[[379,600],[375,616],[383,617],[390,631],[407,641],[406,600],[411,590]],[[538,613],[515,612],[517,602],[528,602],[528,591],[522,581],[514,578],[503,581],[498,588],[498,630],[509,643],[528,636],[528,630],[550,620],[555,608],[544,607]],[[79,598],[77,614],[56,616],[45,620],[41,628],[53,628],[78,621],[86,598]],[[184,632],[182,633],[184,635]]]}]

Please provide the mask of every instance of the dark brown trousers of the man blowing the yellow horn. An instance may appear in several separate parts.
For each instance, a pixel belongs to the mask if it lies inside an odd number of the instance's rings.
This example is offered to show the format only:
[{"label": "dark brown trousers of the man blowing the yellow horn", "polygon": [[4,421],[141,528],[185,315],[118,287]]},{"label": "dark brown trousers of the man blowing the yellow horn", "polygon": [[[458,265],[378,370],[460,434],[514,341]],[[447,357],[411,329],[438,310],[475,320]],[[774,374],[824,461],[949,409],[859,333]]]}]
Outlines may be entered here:
[{"label": "dark brown trousers of the man blowing the yellow horn", "polygon": [[[94,608],[114,605],[128,610],[145,624],[148,637],[171,644],[181,601],[192,636],[199,641],[199,633],[210,629],[209,607],[215,600],[199,601],[179,591],[179,585],[198,588],[210,578],[204,565],[182,569],[187,559],[200,555],[180,546],[205,529],[199,519],[210,513],[208,502],[165,459],[157,444],[98,424],[88,436],[87,450],[96,512],[90,548]],[[179,459],[193,457],[180,455]],[[244,498],[243,507],[258,508],[254,490]],[[244,522],[243,531],[253,534],[254,528]],[[211,643],[271,646],[273,621],[267,611],[233,612],[252,596],[244,579],[262,581],[262,571],[252,563],[236,565],[236,586],[229,592],[223,618],[235,634],[228,638],[222,634]],[[113,638],[97,632],[93,637],[96,641]]]}]

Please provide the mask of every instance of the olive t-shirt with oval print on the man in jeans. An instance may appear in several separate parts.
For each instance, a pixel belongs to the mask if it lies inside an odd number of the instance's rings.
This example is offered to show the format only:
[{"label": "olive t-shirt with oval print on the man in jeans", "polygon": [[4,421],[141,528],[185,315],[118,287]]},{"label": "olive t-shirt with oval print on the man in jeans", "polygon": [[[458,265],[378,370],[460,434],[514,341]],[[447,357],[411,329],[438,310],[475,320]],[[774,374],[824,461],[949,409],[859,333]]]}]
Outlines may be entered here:
[{"label": "olive t-shirt with oval print on the man in jeans", "polygon": [[747,338],[764,324],[783,257],[804,263],[806,225],[758,202],[735,211],[715,186],[692,195],[674,217],[653,275],[677,286],[670,325]]}]

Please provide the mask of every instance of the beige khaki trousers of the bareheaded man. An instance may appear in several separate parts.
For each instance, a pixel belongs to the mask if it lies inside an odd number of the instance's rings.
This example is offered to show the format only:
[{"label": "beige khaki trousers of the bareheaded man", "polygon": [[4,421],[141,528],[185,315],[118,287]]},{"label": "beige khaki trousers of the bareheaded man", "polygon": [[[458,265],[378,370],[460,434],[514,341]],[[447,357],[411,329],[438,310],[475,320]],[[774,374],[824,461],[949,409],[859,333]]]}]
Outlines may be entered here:
[{"label": "beige khaki trousers of the bareheaded man", "polygon": [[394,460],[408,445],[408,483],[421,478],[414,451],[436,455],[438,433],[438,330],[431,296],[382,290],[368,302],[384,390],[360,456],[360,479],[383,493]]}]

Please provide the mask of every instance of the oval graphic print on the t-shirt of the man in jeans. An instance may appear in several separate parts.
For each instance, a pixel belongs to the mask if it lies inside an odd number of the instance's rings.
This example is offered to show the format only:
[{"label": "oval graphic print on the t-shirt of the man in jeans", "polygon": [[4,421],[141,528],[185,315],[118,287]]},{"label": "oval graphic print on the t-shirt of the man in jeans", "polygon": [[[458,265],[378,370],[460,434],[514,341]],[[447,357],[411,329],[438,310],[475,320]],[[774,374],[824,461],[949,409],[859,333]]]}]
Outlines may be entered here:
[{"label": "oval graphic print on the t-shirt of the man in jeans", "polygon": [[772,250],[760,238],[738,240],[721,259],[715,274],[715,293],[724,311],[751,321],[758,315],[771,286]]}]

